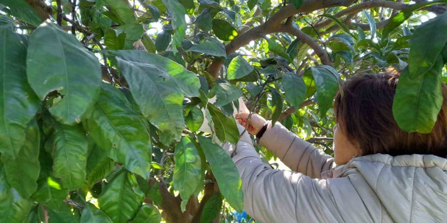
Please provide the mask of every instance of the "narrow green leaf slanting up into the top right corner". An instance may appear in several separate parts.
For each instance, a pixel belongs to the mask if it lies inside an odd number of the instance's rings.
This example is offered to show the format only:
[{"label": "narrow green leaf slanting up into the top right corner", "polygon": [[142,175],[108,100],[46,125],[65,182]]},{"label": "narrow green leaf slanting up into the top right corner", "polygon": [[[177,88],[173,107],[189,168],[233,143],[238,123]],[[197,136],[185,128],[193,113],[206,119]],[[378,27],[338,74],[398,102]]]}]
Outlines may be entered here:
[{"label": "narrow green leaf slanting up into the top right corner", "polygon": [[444,1],[433,1],[433,2],[422,2],[418,4],[414,4],[409,8],[406,8],[396,15],[392,16],[389,19],[389,22],[385,25],[384,30],[382,31],[382,38],[387,38],[388,34],[390,34],[391,31],[393,31],[396,27],[401,25],[405,20],[410,18],[410,16],[413,14],[413,11],[416,11],[422,7],[425,7],[427,5],[433,5],[435,3],[441,3]]}]

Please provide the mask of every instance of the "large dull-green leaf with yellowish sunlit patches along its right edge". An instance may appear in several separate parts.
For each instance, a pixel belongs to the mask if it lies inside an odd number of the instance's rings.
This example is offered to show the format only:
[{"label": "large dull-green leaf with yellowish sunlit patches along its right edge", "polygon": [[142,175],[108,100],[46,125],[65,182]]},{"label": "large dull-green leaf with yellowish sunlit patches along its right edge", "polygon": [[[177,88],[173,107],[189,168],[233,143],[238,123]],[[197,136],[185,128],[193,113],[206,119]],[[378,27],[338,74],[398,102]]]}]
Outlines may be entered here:
[{"label": "large dull-green leaf with yellowish sunlit patches along its right edge", "polygon": [[[143,51],[116,51],[115,54],[144,117],[166,136],[180,139],[184,129],[183,93],[180,88],[185,86],[189,90],[189,86],[170,75],[189,75],[188,71],[169,59]],[[199,89],[199,79],[194,74],[190,77],[197,79]],[[190,79],[189,83],[192,81]]]}]

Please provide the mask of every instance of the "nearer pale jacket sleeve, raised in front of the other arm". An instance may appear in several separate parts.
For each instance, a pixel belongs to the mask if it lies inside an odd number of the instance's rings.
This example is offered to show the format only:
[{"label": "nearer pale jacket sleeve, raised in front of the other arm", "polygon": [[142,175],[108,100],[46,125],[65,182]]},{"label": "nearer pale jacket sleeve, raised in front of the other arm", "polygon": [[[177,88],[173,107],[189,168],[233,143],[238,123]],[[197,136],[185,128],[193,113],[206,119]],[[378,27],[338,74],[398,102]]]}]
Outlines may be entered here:
[{"label": "nearer pale jacket sleeve, raised in front of the other arm", "polygon": [[[243,127],[238,127],[242,132]],[[229,143],[222,147],[233,151]],[[343,222],[326,180],[271,169],[261,161],[248,134],[238,142],[233,161],[242,179],[244,209],[254,219],[263,223]]]}]

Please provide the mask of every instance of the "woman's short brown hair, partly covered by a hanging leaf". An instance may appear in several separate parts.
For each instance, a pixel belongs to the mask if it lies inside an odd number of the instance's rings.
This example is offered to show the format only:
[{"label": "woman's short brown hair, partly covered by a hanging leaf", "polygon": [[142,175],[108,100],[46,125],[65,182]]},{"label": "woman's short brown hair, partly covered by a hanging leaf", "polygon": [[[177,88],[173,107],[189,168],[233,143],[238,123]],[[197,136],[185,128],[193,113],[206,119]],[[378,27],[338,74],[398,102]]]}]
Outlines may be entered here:
[{"label": "woman's short brown hair, partly covered by a hanging leaf", "polygon": [[340,130],[357,144],[363,156],[432,154],[447,157],[447,86],[437,121],[428,134],[408,133],[393,117],[393,98],[398,74],[375,73],[354,77],[335,98],[334,110]]}]

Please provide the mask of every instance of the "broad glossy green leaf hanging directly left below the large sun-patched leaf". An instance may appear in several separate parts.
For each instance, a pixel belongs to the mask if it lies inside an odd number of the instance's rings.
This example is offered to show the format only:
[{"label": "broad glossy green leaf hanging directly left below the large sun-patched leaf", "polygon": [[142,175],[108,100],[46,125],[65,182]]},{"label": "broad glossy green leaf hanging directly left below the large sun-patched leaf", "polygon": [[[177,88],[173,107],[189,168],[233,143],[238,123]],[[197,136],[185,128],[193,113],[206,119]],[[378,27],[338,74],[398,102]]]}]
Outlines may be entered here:
[{"label": "broad glossy green leaf hanging directly left below the large sun-patched leaf", "polygon": [[111,159],[149,178],[152,147],[149,133],[121,91],[103,83],[93,112],[83,123]]}]

